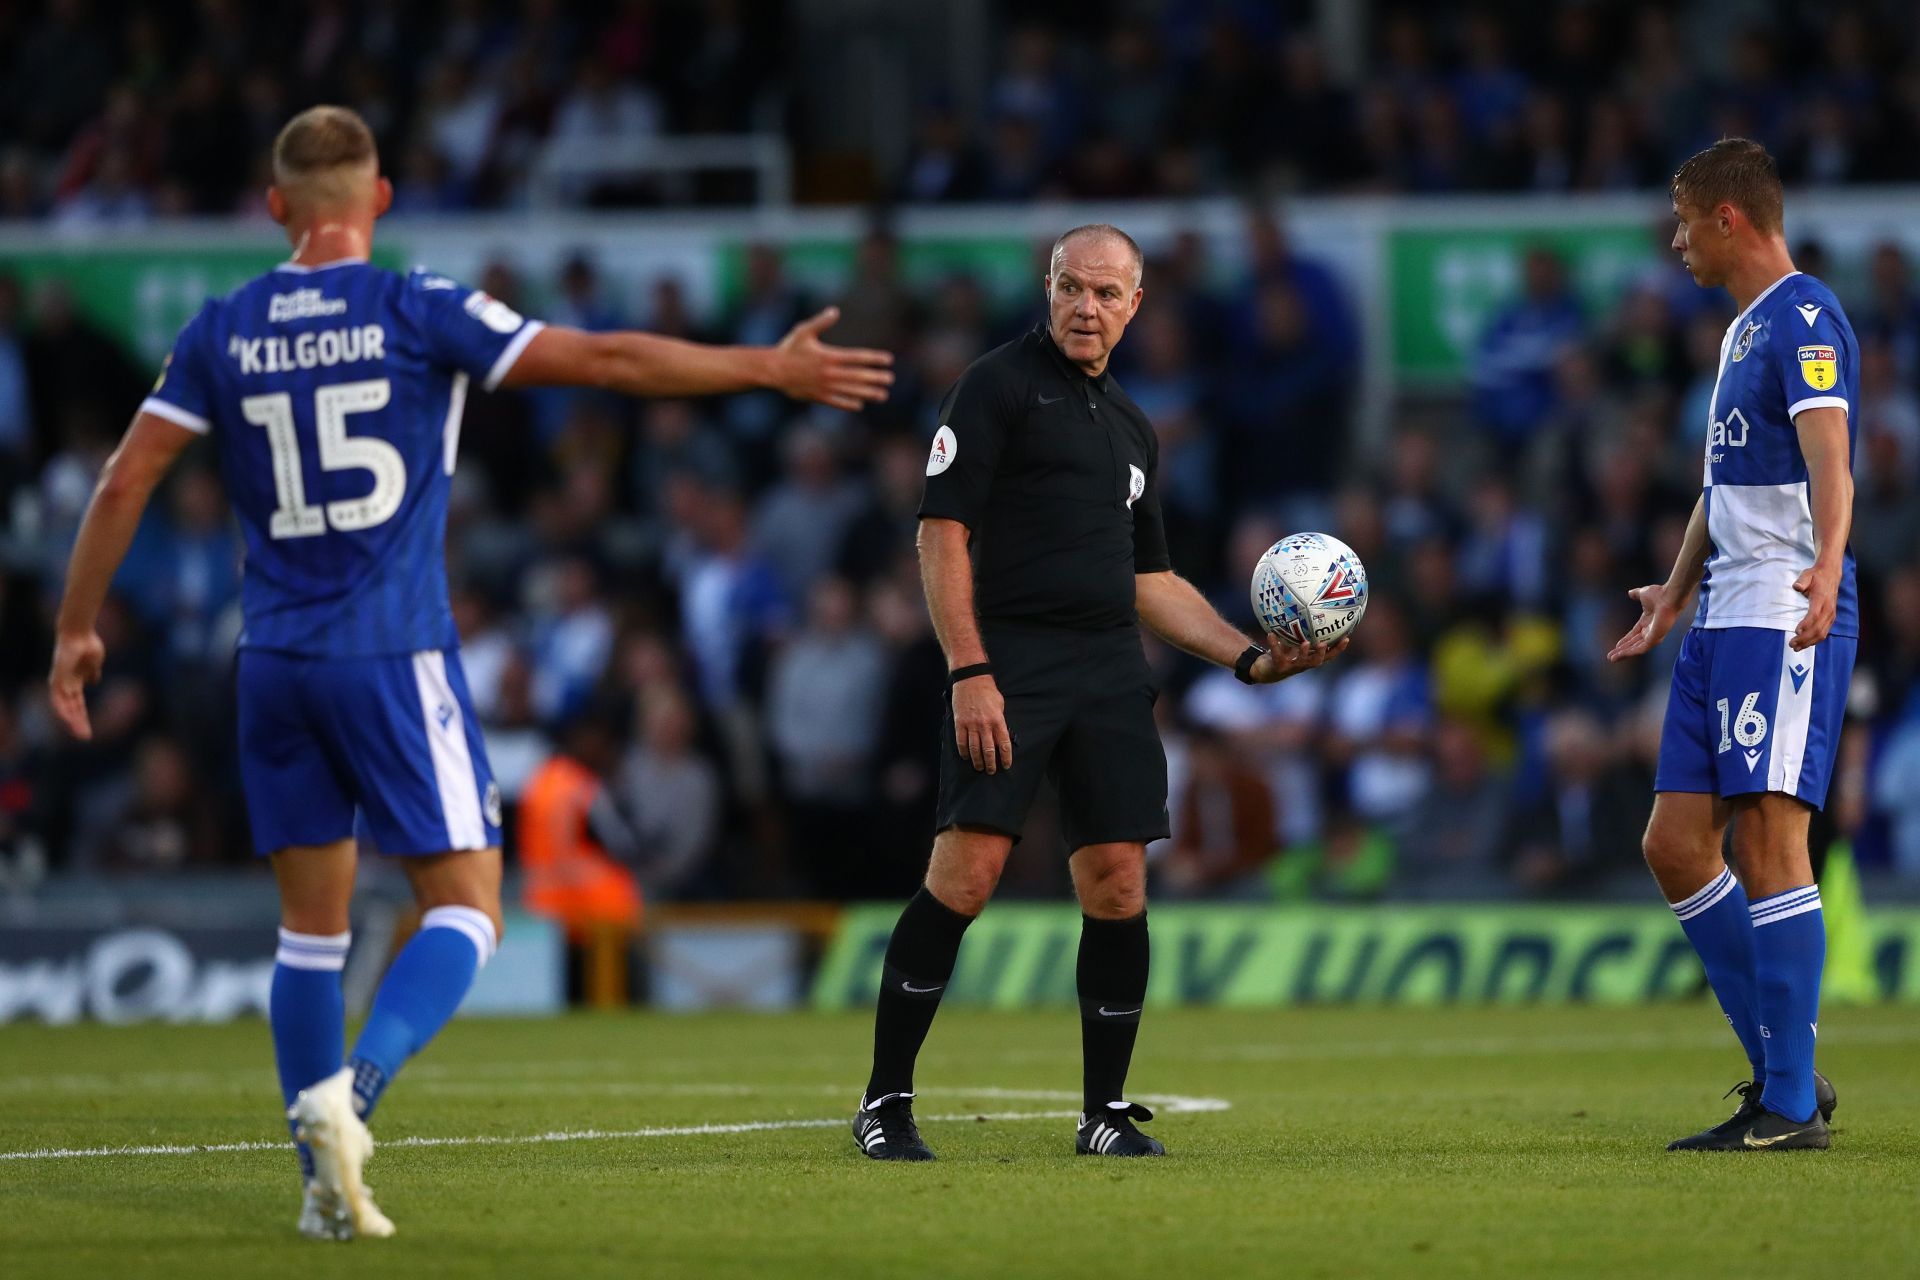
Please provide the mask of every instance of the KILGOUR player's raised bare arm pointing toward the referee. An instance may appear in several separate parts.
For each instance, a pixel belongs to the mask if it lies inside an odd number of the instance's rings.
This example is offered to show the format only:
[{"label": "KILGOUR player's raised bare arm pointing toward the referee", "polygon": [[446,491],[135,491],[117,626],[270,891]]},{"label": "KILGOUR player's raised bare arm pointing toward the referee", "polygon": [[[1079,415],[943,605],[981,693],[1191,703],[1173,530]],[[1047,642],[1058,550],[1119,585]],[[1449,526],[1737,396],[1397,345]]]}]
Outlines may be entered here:
[{"label": "KILGOUR player's raised bare arm pointing toward the referee", "polygon": [[501,386],[597,386],[628,395],[726,395],[783,391],[835,409],[887,399],[893,353],[835,347],[820,340],[839,320],[828,307],[801,320],[774,347],[716,347],[659,334],[540,330]]}]

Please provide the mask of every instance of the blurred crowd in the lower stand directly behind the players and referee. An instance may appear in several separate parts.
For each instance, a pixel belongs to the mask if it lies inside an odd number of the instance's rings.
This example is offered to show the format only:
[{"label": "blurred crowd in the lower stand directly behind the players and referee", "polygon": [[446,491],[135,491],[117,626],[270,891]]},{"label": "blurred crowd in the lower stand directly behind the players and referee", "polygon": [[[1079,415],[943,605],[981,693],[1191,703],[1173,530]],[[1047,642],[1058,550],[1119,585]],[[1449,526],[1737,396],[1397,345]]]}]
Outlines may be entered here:
[{"label": "blurred crowd in the lower stand directly behind the players and referee", "polygon": [[[1475,367],[1494,372],[1398,407],[1361,447],[1350,299],[1265,217],[1248,246],[1233,273],[1196,234],[1150,246],[1148,303],[1116,359],[1162,434],[1175,564],[1250,626],[1258,555],[1325,528],[1369,566],[1373,603],[1346,658],[1273,687],[1148,645],[1175,823],[1156,892],[1644,890],[1678,633],[1636,664],[1605,651],[1697,495],[1724,296],[1663,269],[1592,313],[1536,251],[1524,296],[1484,330]],[[1002,313],[966,276],[908,288],[897,255],[870,232],[833,299],[851,340],[900,359],[893,401],[866,415],[762,395],[468,403],[449,564],[509,808],[572,727],[609,727],[597,768],[653,896],[895,896],[924,867],[943,691],[912,553],[927,439],[964,365],[1041,305]],[[1864,865],[1920,879],[1920,286],[1895,246],[1860,274],[1843,301],[1862,351],[1864,633],[1832,814]],[[588,257],[553,280],[497,263],[482,284],[532,315],[737,342],[829,301],[770,246],[745,276],[712,315]],[[96,743],[61,743],[44,708],[61,558],[146,374],[58,288],[23,305],[0,278],[0,846],[79,871],[248,856],[238,539],[204,453],[159,495],[104,614]],[[1041,810],[1008,889],[1058,889],[1056,846]]]}]

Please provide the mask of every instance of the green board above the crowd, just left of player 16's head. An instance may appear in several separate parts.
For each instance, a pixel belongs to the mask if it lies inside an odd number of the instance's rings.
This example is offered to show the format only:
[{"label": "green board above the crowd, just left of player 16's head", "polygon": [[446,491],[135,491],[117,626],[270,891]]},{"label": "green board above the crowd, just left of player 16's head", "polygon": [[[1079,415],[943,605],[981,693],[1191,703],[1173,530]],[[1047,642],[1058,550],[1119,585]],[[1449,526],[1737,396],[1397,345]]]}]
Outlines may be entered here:
[{"label": "green board above the crowd, just left of player 16's head", "polygon": [[1659,263],[1649,223],[1559,226],[1392,228],[1386,232],[1386,305],[1394,374],[1407,382],[1459,382],[1494,313],[1521,296],[1526,251],[1553,249],[1590,315]]}]

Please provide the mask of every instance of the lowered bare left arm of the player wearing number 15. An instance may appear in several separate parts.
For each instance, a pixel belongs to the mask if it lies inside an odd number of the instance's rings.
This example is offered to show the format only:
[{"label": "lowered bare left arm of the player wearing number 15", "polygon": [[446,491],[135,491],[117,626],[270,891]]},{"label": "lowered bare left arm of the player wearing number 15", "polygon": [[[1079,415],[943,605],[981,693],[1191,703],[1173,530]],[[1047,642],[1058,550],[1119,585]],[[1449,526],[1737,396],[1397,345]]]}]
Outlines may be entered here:
[{"label": "lowered bare left arm of the player wearing number 15", "polygon": [[86,685],[100,679],[108,656],[108,647],[94,629],[100,606],[134,530],[140,528],[140,514],[146,512],[154,487],[196,438],[184,426],[142,413],[100,468],[100,484],[94,486],[67,562],[67,591],[54,626],[54,670],[46,677],[54,714],[81,741],[94,735],[86,720]]}]

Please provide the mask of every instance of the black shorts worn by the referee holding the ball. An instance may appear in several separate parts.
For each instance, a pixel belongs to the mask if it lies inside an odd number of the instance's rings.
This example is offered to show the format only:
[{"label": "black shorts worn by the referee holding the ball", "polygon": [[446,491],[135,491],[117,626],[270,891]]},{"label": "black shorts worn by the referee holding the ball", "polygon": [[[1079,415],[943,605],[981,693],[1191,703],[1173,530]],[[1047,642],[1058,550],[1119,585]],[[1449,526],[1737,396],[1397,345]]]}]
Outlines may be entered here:
[{"label": "black shorts worn by the referee holding the ball", "polygon": [[1006,699],[1014,768],[983,773],[954,743],[952,697],[941,723],[937,827],[989,827],[1016,841],[1052,779],[1069,850],[1169,835],[1167,752],[1139,628],[983,624],[993,677]]}]

